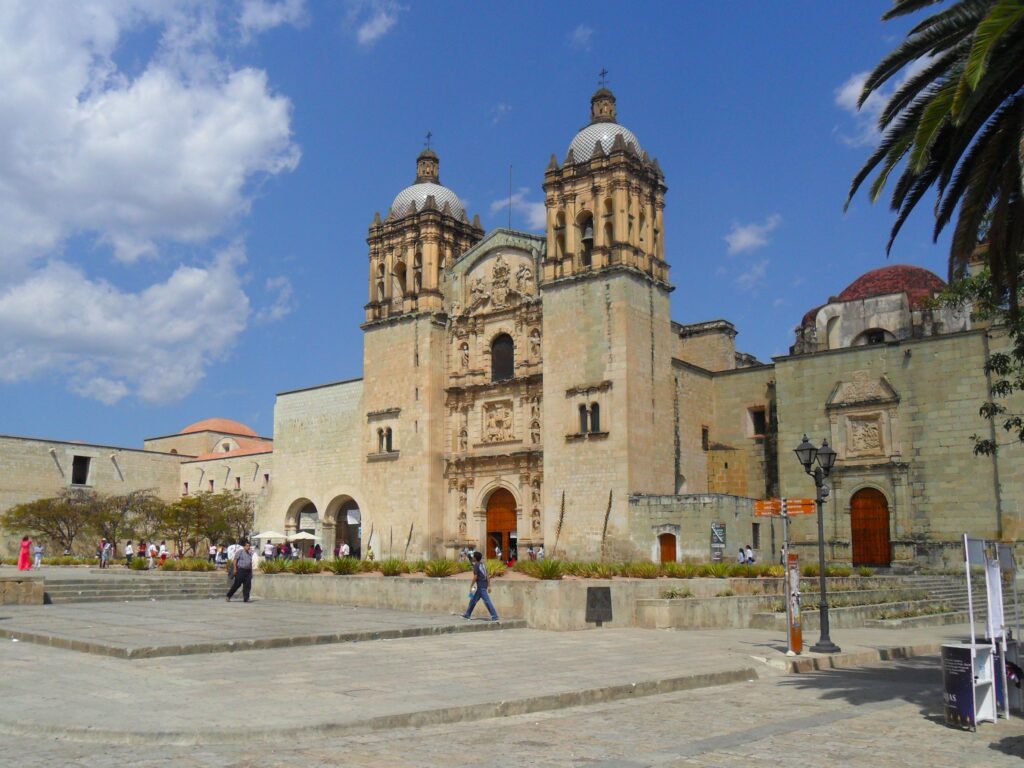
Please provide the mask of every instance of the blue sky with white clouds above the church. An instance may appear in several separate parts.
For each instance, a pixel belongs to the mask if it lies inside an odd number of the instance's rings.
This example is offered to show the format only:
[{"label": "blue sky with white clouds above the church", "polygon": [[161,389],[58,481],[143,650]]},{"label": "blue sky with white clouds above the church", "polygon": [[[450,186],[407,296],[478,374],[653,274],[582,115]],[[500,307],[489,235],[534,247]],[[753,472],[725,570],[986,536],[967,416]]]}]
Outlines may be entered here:
[{"label": "blue sky with white clouds above the church", "polygon": [[673,316],[783,354],[862,272],[945,274],[929,206],[850,179],[887,0],[0,5],[0,433],[140,445],[361,375],[366,236],[433,133],[484,228],[536,229],[602,68],[665,170]]}]

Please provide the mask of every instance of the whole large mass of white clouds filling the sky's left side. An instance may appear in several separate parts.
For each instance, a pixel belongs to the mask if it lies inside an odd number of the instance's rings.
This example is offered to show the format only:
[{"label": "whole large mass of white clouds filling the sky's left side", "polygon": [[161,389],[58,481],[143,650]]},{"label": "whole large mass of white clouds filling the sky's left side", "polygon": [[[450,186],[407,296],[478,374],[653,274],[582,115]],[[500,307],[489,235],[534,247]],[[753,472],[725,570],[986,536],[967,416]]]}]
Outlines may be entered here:
[{"label": "whole large mass of white clouds filling the sky's left side", "polygon": [[[210,242],[299,148],[288,98],[223,53],[236,22],[194,0],[0,4],[0,380],[59,374],[104,402],[164,401],[245,328],[242,245]],[[115,57],[129,36],[157,39],[131,73]],[[163,282],[123,290],[96,252],[76,263],[72,237],[157,260]],[[206,265],[161,264],[182,243]]]}]

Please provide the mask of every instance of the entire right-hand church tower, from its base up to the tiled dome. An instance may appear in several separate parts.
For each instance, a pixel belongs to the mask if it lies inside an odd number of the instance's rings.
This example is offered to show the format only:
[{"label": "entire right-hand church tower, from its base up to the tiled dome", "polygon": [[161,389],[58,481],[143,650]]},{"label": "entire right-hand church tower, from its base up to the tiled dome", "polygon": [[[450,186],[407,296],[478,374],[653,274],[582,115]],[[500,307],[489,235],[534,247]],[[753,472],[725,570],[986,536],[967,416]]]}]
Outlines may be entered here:
[{"label": "entire right-hand church tower, from its base up to the tiled dome", "polygon": [[554,557],[647,558],[633,549],[629,498],[675,489],[667,187],[603,82],[590,104],[544,175],[545,430],[564,435],[544,449],[544,504],[559,510],[544,539],[561,543]]}]

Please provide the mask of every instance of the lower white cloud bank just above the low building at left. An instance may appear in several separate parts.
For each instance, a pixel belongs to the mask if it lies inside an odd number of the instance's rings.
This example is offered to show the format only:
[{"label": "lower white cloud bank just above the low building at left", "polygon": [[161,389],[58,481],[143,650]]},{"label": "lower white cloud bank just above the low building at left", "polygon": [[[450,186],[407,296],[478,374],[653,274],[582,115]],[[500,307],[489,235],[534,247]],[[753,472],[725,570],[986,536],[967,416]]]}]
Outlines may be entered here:
[{"label": "lower white cloud bank just above the low building at left", "polygon": [[246,326],[241,244],[132,293],[52,261],[0,293],[0,381],[56,372],[83,396],[176,400]]}]

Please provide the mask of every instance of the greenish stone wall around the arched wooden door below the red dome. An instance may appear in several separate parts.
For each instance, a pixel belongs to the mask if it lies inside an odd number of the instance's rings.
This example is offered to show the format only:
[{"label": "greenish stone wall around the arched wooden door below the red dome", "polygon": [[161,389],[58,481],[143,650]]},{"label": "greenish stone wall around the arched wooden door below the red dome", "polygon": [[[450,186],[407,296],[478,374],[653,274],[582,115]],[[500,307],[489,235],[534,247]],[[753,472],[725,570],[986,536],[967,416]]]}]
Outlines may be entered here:
[{"label": "greenish stone wall around the arched wooden door below the red dome", "polygon": [[[830,559],[850,561],[851,499],[861,488],[886,497],[896,561],[941,564],[964,532],[999,535],[996,465],[974,456],[971,440],[987,431],[978,416],[985,347],[984,332],[972,331],[776,359],[782,495],[814,494],[787,450],[805,432],[815,444],[828,437],[839,452],[825,506]],[[1000,457],[1000,468],[1008,463],[1005,474],[1016,477],[1014,459]],[[1004,479],[1007,518],[1016,519],[1020,484]],[[810,555],[812,516],[796,520],[793,536]]]}]

